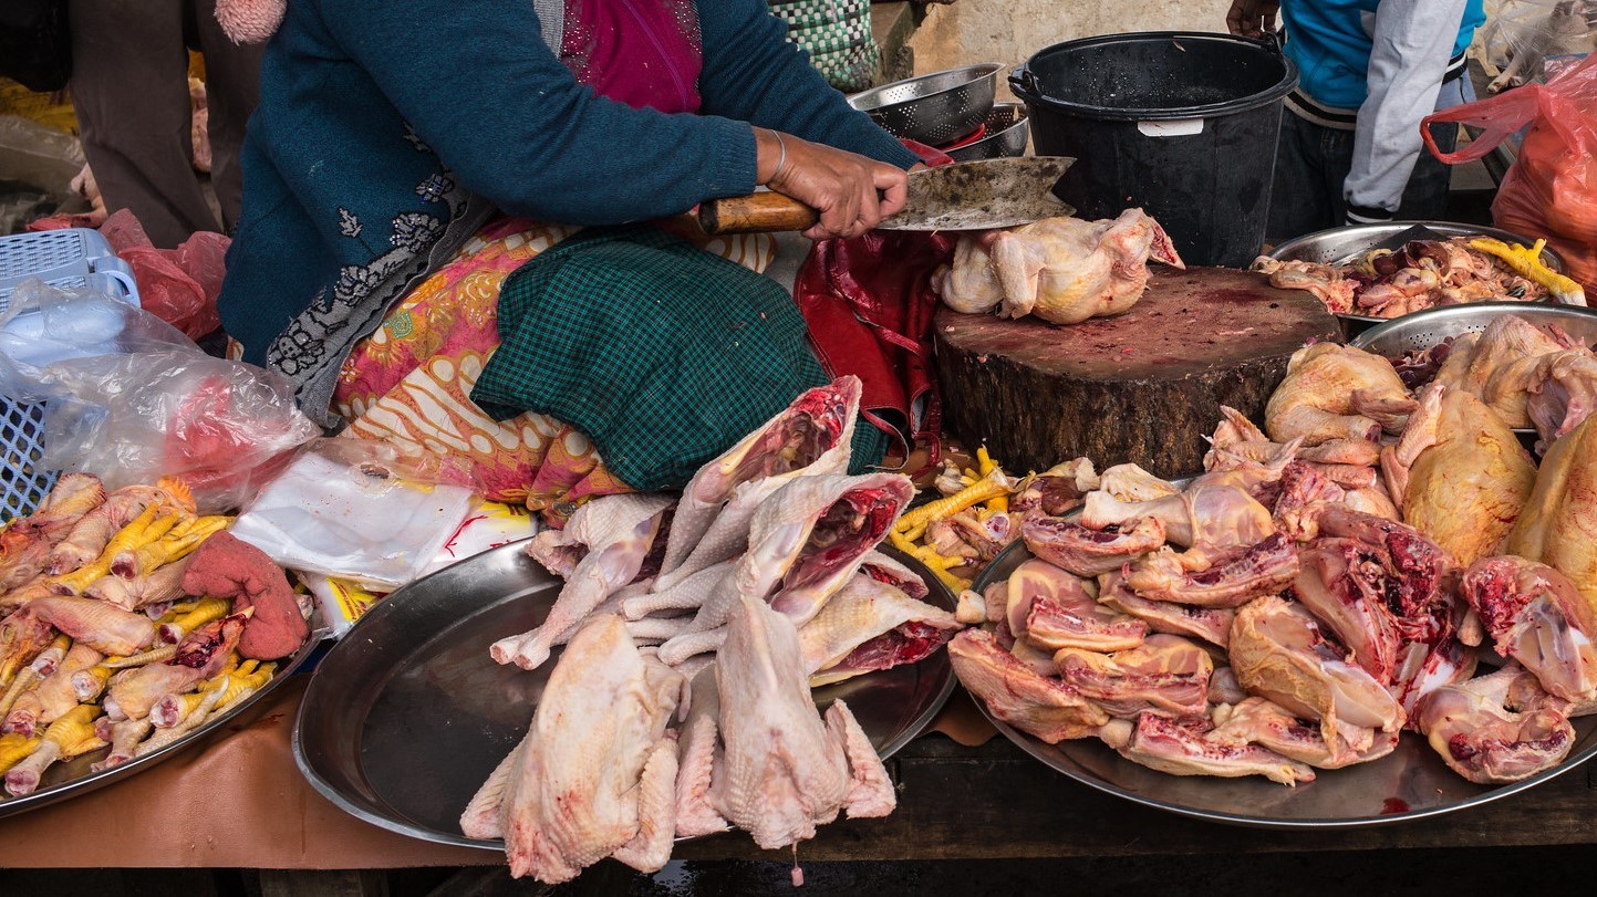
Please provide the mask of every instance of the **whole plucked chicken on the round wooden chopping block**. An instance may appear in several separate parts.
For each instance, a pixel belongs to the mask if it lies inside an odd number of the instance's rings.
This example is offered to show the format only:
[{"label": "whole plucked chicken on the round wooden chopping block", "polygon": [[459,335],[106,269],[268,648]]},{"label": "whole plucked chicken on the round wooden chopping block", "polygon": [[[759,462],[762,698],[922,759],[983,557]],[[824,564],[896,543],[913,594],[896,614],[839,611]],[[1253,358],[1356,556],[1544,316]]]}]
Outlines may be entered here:
[{"label": "whole plucked chicken on the round wooden chopping block", "polygon": [[961,236],[953,265],[936,279],[955,311],[1000,306],[1006,318],[1052,324],[1121,314],[1148,286],[1148,259],[1185,268],[1169,235],[1142,209],[1118,219],[1044,219],[997,235]]}]

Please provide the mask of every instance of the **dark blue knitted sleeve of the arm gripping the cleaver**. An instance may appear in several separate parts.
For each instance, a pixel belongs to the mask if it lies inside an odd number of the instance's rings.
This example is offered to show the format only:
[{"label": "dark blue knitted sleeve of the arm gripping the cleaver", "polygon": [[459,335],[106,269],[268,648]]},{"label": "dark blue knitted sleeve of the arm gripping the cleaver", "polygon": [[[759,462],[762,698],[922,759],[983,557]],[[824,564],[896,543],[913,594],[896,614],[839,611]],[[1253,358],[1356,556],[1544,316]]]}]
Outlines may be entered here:
[{"label": "dark blue knitted sleeve of the arm gripping the cleaver", "polygon": [[323,0],[321,18],[462,184],[506,212],[621,223],[755,187],[746,123],[596,96],[543,45],[529,0]]}]

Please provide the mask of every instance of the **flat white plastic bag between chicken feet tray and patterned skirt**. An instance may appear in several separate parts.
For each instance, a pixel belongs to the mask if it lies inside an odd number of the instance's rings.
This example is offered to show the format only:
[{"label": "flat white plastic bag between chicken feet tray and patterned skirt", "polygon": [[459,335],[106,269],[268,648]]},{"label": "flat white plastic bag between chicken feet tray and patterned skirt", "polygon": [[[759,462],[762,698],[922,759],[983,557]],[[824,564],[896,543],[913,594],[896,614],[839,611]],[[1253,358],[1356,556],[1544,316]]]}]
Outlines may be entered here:
[{"label": "flat white plastic bag between chicken feet tray and patterned skirt", "polygon": [[391,591],[422,575],[476,503],[473,490],[366,439],[307,445],[233,522],[279,565]]}]

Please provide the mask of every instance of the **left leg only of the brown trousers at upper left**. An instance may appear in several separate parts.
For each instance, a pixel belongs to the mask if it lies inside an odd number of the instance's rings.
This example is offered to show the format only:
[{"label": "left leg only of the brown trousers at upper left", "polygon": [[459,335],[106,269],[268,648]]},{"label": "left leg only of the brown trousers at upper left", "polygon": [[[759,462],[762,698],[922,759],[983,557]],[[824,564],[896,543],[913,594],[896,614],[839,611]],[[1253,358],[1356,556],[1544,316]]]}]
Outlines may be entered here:
[{"label": "left leg only of the brown trousers at upper left", "polygon": [[216,215],[193,172],[182,0],[70,0],[72,104],[109,211],[161,247]]}]

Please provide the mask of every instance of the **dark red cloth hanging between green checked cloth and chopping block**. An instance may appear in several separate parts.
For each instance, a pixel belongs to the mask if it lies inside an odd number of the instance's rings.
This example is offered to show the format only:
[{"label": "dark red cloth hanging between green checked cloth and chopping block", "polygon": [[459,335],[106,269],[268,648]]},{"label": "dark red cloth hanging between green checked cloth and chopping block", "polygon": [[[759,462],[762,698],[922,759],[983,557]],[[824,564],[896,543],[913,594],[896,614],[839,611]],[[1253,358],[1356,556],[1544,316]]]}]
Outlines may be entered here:
[{"label": "dark red cloth hanging between green checked cloth and chopping block", "polygon": [[[905,145],[926,164],[953,161],[931,147]],[[822,239],[794,281],[794,298],[826,372],[859,377],[866,420],[905,453],[915,444],[926,445],[928,464],[937,463],[942,421],[931,367],[931,318],[937,311],[931,275],[953,259],[958,236],[872,230],[854,239]]]}]

